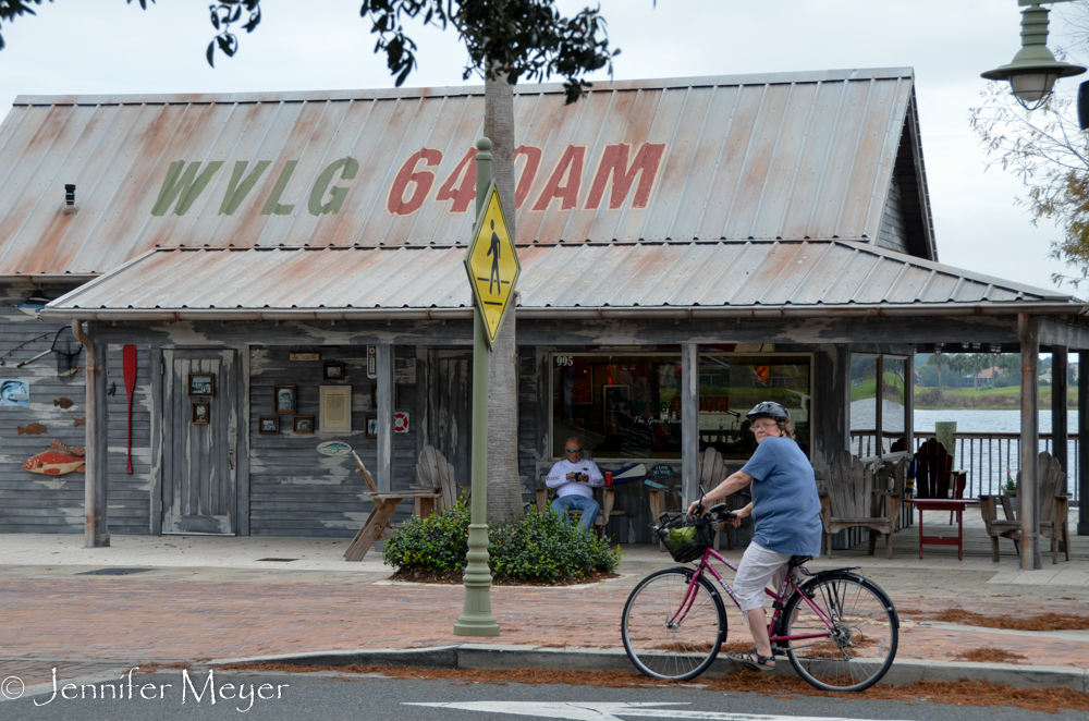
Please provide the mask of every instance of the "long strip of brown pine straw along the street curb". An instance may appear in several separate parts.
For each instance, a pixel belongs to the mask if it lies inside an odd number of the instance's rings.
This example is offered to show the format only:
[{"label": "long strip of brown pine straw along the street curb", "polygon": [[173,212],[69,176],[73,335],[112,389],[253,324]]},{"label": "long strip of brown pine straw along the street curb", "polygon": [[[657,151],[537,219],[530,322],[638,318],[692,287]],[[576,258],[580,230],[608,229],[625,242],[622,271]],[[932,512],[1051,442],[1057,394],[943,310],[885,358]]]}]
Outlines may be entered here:
[{"label": "long strip of brown pine straw along the street curb", "polygon": [[462,684],[493,685],[566,684],[570,686],[605,686],[610,688],[703,688],[712,692],[755,692],[766,696],[827,696],[865,698],[867,700],[929,701],[953,706],[1011,706],[1031,711],[1059,713],[1062,710],[1089,711],[1089,693],[1073,688],[1015,688],[1008,684],[986,681],[917,681],[904,686],[877,684],[861,693],[817,691],[797,676],[771,676],[757,671],[739,671],[724,679],[700,679],[692,682],[656,681],[633,671],[556,671],[549,669],[511,669],[486,671],[478,669],[418,669],[409,667],[346,665],[303,667],[284,663],[231,663],[223,670],[308,673],[372,673],[404,680],[451,681]]}]

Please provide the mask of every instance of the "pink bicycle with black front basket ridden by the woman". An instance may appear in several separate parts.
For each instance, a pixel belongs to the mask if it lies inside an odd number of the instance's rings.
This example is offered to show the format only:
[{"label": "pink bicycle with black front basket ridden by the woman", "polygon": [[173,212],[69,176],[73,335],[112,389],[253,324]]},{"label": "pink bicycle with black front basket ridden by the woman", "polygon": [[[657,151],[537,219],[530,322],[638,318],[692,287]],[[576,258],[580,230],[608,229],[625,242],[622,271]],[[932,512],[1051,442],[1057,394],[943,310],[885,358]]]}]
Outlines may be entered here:
[{"label": "pink bicycle with black front basket ridden by the woman", "polygon": [[[726,610],[710,578],[719,582],[735,606],[737,599],[712,559],[735,572],[737,566],[711,545],[714,524],[733,518],[720,503],[696,517],[683,512],[662,514],[654,526],[675,560],[699,562],[695,567],[652,573],[627,598],[621,623],[624,649],[648,676],[695,679],[711,665],[725,641]],[[808,560],[794,557],[782,588],[764,589],[773,599],[772,651],[786,656],[799,676],[822,691],[869,688],[896,657],[896,609],[888,594],[854,573],[854,567],[809,573]]]}]

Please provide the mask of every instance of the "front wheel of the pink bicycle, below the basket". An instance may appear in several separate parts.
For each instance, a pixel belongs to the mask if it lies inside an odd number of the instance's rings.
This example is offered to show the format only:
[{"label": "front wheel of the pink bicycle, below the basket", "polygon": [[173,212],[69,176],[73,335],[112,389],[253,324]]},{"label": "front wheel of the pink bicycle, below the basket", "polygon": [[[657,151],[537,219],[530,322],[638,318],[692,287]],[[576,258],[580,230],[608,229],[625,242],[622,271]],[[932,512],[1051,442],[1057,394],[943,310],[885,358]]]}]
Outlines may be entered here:
[{"label": "front wheel of the pink bicycle, below the basket", "polygon": [[687,681],[703,673],[726,638],[726,610],[714,586],[700,576],[692,595],[692,569],[650,574],[624,604],[624,650],[643,673]]}]

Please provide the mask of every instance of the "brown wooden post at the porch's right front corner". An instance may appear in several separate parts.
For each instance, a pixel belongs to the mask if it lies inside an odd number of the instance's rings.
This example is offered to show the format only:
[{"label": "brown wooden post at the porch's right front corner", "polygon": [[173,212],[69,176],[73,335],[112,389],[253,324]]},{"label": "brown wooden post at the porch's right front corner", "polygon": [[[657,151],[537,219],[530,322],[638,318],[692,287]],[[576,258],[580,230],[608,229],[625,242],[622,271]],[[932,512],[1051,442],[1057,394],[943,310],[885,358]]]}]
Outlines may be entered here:
[{"label": "brown wooden post at the porch's right front corner", "polygon": [[1040,484],[1037,455],[1040,444],[1040,325],[1021,313],[1017,315],[1017,334],[1021,352],[1021,437],[1020,488],[1017,489],[1018,513],[1021,516],[1021,570],[1042,569],[1040,547]]}]

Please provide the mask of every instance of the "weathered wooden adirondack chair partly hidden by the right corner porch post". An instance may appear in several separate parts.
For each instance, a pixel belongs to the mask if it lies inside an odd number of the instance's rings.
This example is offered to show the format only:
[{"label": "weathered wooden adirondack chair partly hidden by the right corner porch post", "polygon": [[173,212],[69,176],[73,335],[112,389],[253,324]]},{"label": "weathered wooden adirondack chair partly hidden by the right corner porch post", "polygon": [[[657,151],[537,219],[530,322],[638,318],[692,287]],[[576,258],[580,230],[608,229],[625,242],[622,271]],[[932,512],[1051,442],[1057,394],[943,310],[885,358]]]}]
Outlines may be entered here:
[{"label": "weathered wooden adirondack chair partly hidden by the right corner porch post", "polygon": [[[1059,459],[1048,452],[1040,454],[1040,535],[1051,539],[1051,562],[1059,563],[1059,543],[1063,543],[1064,555],[1070,560],[1069,497],[1066,494],[1066,474]],[[1020,487],[1020,474],[1017,474]],[[999,562],[999,538],[1008,538],[1014,550],[1020,553],[1021,521],[1019,509],[1015,509],[1014,496],[980,496],[979,513],[983,518],[987,535],[991,537],[991,561]],[[1006,518],[998,518],[996,503],[1001,502]]]}]

